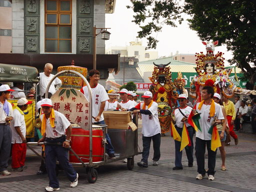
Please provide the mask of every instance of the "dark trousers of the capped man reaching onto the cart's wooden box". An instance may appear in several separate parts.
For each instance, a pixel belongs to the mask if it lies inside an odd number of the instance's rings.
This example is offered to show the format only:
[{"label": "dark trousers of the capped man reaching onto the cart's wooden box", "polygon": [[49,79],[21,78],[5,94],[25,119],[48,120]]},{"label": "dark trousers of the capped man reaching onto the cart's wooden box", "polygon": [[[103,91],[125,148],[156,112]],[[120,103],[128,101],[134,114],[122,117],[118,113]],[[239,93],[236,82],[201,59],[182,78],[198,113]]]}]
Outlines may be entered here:
[{"label": "dark trousers of the capped man reaching onto the cart's wooden box", "polygon": [[153,160],[158,161],[160,158],[161,134],[158,133],[153,136],[142,135],[143,151],[142,151],[141,161],[143,161],[145,163],[147,163],[147,158],[149,156],[151,139],[153,141],[153,149],[154,149]]}]

